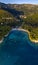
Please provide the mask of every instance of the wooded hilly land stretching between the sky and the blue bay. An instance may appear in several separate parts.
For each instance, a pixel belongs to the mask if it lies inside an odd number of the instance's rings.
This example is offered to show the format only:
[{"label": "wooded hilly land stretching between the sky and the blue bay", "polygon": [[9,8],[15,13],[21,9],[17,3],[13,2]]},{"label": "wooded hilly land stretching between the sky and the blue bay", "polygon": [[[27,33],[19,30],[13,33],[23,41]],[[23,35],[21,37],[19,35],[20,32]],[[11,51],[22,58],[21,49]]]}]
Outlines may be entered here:
[{"label": "wooded hilly land stretching between the sky and the blue bay", "polygon": [[28,30],[32,39],[38,39],[38,5],[0,3],[0,39],[16,27]]}]

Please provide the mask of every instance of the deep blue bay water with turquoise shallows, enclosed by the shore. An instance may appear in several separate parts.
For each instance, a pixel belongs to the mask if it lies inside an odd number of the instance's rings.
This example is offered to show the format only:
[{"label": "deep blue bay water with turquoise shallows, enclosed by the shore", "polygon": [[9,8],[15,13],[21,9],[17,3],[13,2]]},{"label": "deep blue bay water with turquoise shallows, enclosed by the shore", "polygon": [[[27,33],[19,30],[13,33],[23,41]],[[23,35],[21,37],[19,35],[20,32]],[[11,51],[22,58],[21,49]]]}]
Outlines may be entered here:
[{"label": "deep blue bay water with turquoise shallows, enclosed by the shore", "polygon": [[38,65],[38,44],[23,31],[11,31],[0,44],[0,65]]}]

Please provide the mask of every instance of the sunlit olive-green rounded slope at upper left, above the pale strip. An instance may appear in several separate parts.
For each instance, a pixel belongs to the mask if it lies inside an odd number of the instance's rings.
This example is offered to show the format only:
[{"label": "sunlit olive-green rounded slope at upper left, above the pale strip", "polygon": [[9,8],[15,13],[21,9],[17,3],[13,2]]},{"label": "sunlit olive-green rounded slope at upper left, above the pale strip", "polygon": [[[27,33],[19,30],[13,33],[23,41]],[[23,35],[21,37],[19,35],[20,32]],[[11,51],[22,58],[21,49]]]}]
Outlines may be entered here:
[{"label": "sunlit olive-green rounded slope at upper left, above the pale strip", "polygon": [[5,19],[3,20],[2,18],[10,18],[10,17],[13,20],[13,15],[11,13],[0,9],[0,22],[5,22]]}]

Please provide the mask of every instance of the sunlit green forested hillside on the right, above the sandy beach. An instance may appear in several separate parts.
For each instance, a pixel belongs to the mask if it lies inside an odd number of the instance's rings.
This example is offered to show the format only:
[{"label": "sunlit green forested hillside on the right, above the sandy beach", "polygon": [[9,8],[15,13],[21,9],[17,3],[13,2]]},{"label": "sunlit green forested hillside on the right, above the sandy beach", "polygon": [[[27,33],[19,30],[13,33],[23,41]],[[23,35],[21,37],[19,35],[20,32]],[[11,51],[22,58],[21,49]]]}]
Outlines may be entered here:
[{"label": "sunlit green forested hillside on the right, above the sandy beach", "polygon": [[32,39],[38,40],[38,13],[23,19],[21,27],[30,31]]}]

